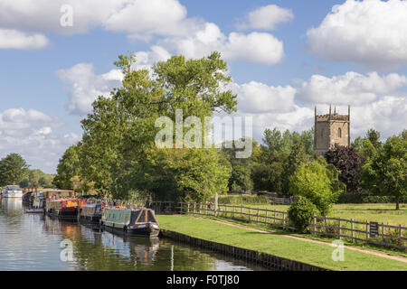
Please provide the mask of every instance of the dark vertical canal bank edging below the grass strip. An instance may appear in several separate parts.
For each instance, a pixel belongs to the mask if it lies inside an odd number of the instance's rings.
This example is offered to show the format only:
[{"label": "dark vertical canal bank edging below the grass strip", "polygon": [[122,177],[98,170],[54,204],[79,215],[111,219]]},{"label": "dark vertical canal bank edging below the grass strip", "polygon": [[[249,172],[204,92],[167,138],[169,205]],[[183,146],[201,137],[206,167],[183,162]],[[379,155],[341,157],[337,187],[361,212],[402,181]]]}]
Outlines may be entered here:
[{"label": "dark vertical canal bank edging below the grass strip", "polygon": [[194,247],[202,247],[210,249],[214,252],[233,256],[244,261],[249,261],[265,268],[277,271],[332,271],[327,268],[309,265],[296,260],[291,260],[281,256],[274,256],[260,251],[254,251],[241,247],[234,247],[227,244],[217,243],[204,240],[202,238],[194,238],[182,233],[161,228],[160,237],[171,238],[175,241],[192,245]]}]

